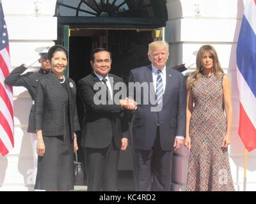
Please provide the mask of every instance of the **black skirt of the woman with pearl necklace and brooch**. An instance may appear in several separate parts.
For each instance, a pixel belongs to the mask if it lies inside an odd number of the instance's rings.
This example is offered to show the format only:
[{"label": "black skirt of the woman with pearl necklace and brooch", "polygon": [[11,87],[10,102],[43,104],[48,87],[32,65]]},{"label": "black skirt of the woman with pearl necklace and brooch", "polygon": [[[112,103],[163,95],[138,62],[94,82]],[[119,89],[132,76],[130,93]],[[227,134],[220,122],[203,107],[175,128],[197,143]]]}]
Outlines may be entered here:
[{"label": "black skirt of the woman with pearl necklace and brooch", "polygon": [[73,140],[63,140],[63,136],[44,136],[44,143],[45,154],[43,157],[38,156],[35,189],[46,191],[73,190]]}]

